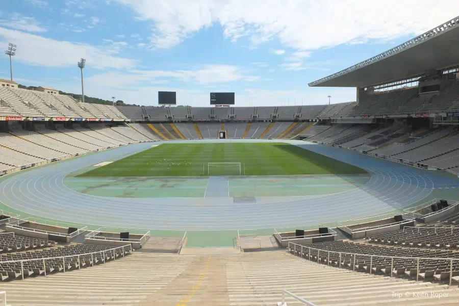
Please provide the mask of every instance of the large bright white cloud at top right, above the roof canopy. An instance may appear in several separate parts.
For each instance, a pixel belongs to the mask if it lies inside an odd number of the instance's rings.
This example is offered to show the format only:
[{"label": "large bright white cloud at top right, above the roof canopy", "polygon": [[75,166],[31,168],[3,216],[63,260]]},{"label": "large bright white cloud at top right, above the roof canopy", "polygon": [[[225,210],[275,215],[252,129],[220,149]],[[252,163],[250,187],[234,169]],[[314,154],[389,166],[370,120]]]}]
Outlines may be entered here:
[{"label": "large bright white cloud at top right, above the roof canopy", "polygon": [[[116,0],[152,21],[151,42],[167,48],[220,23],[232,40],[253,44],[278,39],[285,47],[315,50],[371,39],[420,34],[453,18],[456,0]],[[428,9],[424,9],[428,8]],[[396,12],[396,13],[394,13]]]}]

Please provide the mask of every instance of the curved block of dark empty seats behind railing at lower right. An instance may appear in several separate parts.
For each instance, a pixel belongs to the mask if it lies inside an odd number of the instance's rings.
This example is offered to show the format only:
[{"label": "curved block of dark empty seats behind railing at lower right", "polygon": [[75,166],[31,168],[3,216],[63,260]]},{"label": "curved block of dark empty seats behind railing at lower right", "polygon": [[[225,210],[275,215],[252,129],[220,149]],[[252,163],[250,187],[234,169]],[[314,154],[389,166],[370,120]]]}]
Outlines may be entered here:
[{"label": "curved block of dark empty seats behind railing at lower right", "polygon": [[439,282],[449,281],[450,276],[459,276],[459,252],[452,250],[329,241],[304,246],[290,244],[289,251],[316,263],[370,274]]}]

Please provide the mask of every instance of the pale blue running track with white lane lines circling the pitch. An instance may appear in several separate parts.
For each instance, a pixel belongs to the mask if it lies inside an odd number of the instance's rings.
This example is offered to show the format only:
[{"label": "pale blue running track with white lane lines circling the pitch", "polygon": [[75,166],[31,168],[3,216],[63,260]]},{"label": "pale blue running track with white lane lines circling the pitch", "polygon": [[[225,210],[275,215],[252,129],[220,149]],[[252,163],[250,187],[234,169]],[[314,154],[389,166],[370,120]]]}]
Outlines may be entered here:
[{"label": "pale blue running track with white lane lines circling the pitch", "polygon": [[32,215],[65,222],[151,230],[244,230],[336,222],[380,215],[416,203],[432,189],[458,188],[459,179],[346,149],[301,141],[303,148],[359,166],[368,183],[346,192],[304,197],[260,197],[235,203],[231,197],[109,198],[67,188],[64,177],[99,162],[145,150],[134,144],[20,172],[0,183],[0,202]]}]

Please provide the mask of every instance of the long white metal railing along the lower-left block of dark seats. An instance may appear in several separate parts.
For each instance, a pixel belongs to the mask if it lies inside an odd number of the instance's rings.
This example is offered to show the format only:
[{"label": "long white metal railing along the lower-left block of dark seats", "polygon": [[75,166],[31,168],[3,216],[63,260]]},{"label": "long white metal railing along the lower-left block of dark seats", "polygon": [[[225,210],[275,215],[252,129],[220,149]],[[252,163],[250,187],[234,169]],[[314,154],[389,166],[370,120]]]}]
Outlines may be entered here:
[{"label": "long white metal railing along the lower-left block of dark seats", "polygon": [[67,255],[67,256],[59,256],[59,257],[48,257],[48,258],[35,258],[35,259],[24,259],[24,260],[12,260],[12,261],[0,261],[0,264],[11,264],[11,263],[20,263],[21,264],[21,278],[24,279],[24,263],[25,262],[39,262],[39,265],[36,266],[42,266],[43,267],[43,275],[46,276],[46,262],[49,260],[59,260],[62,259],[62,265],[63,265],[63,272],[65,272],[65,259],[66,258],[77,258],[78,259],[78,269],[81,270],[81,261],[80,257],[85,257],[91,255],[91,263],[92,266],[94,267],[94,254],[101,253],[103,254],[103,263],[105,263],[105,258],[106,254],[109,253],[110,256],[113,254],[113,260],[116,260],[116,250],[122,248],[122,257],[124,258],[124,248],[129,247],[129,253],[132,254],[132,245],[131,244],[126,244],[118,247],[114,247],[108,250],[102,250],[102,251],[95,251],[95,252],[90,252],[90,253],[83,253],[83,254],[76,254],[76,255]]}]

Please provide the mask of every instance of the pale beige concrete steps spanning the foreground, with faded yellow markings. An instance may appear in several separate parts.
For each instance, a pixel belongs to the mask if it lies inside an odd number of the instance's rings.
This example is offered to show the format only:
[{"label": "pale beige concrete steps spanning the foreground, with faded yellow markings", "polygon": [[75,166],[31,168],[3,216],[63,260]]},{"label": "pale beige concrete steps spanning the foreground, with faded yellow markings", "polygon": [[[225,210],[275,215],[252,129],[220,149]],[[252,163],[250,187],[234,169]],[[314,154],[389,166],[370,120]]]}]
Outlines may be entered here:
[{"label": "pale beige concrete steps spanning the foreground, with faded yellow markings", "polygon": [[[274,306],[282,289],[320,306],[453,306],[459,298],[456,286],[329,267],[285,250],[224,256],[134,252],[90,269],[3,282],[0,287],[12,306]],[[432,298],[430,292],[445,295]],[[304,305],[290,297],[286,302]]]}]

